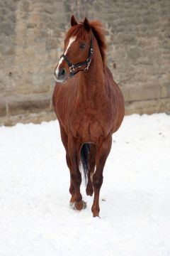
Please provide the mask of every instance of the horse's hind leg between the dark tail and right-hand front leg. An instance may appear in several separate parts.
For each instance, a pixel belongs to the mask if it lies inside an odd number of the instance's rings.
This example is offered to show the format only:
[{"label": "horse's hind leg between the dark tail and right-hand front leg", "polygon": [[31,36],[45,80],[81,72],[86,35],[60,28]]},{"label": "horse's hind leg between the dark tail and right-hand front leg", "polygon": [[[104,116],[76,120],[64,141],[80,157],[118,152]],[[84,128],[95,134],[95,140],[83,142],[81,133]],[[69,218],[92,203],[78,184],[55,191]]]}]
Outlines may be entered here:
[{"label": "horse's hind leg between the dark tail and right-hand front leg", "polygon": [[96,145],[91,144],[90,152],[89,152],[89,176],[88,176],[88,183],[86,186],[86,194],[87,196],[92,196],[94,193],[94,186],[93,186],[93,175],[96,166]]}]

